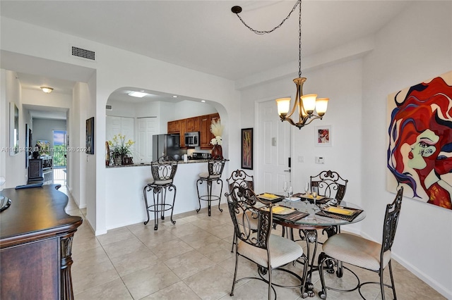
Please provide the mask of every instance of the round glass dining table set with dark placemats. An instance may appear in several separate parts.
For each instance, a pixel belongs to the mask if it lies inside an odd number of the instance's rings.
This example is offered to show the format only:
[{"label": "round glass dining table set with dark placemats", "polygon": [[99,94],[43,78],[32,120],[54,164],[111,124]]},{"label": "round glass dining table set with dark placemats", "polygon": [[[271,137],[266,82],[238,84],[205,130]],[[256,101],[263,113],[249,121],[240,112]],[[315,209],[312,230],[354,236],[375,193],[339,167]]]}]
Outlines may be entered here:
[{"label": "round glass dining table set with dark placemats", "polygon": [[[306,241],[307,253],[305,255],[309,269],[305,290],[308,296],[313,297],[312,273],[319,270],[319,265],[315,263],[317,246],[319,245],[317,230],[322,230],[322,234],[326,233],[328,237],[331,237],[340,232],[341,225],[349,225],[364,220],[366,212],[349,201],[340,201],[339,204],[333,204],[334,199],[323,197],[314,205],[312,199],[304,198],[300,194],[295,199],[297,201],[273,202],[273,223],[283,226],[283,236],[294,241]],[[294,230],[298,230],[299,237],[295,237]],[[311,249],[312,247],[313,249]],[[342,276],[342,272],[342,263],[338,263],[339,277]]]}]

